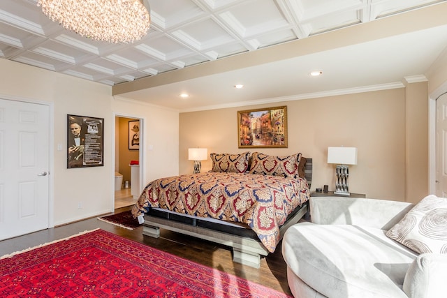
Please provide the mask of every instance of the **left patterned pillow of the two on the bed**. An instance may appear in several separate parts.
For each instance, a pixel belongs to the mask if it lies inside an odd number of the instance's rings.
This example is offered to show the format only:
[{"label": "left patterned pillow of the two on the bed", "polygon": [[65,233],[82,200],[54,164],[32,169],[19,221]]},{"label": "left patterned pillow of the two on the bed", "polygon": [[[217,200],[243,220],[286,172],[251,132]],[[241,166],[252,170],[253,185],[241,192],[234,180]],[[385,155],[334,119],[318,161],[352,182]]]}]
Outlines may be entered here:
[{"label": "left patterned pillow of the two on the bed", "polygon": [[243,173],[249,168],[250,152],[242,154],[210,154],[212,160],[211,172],[235,172]]}]

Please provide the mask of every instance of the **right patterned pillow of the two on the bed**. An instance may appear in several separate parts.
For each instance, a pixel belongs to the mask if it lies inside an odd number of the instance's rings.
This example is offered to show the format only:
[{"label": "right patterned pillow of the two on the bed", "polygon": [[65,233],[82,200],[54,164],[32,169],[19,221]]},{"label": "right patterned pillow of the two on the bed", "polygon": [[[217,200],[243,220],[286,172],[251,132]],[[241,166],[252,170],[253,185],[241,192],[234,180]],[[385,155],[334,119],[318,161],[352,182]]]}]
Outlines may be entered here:
[{"label": "right patterned pillow of the two on the bed", "polygon": [[254,152],[251,156],[250,174],[263,174],[298,178],[298,164],[301,154],[270,156]]}]

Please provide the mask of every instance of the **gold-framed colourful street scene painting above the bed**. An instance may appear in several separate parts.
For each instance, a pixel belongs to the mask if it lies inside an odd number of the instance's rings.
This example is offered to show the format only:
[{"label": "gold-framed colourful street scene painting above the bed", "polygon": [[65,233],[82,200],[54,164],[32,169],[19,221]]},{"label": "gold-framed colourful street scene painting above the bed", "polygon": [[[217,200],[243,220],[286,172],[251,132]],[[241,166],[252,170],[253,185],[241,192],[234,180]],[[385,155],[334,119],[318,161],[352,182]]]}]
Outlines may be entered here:
[{"label": "gold-framed colourful street scene painting above the bed", "polygon": [[239,148],[287,147],[287,107],[237,112]]}]

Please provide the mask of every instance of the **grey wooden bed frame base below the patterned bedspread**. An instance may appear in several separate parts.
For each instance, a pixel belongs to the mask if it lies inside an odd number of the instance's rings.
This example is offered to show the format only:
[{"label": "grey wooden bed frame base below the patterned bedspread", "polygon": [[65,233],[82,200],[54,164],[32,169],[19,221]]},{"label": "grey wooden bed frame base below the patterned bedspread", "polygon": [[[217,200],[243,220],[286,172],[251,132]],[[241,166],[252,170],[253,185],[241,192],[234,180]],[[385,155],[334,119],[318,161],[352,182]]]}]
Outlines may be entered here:
[{"label": "grey wooden bed frame base below the patterned bedspread", "polygon": [[[300,218],[305,216],[306,212],[307,204],[302,206],[293,218],[290,218],[286,224],[281,226],[279,229],[281,238],[291,225],[297,223]],[[258,239],[219,232],[188,223],[170,221],[165,218],[145,216],[142,234],[158,238],[160,237],[160,228],[233,247],[233,262],[255,268],[261,267],[261,256],[266,256],[269,253],[267,248]]]}]

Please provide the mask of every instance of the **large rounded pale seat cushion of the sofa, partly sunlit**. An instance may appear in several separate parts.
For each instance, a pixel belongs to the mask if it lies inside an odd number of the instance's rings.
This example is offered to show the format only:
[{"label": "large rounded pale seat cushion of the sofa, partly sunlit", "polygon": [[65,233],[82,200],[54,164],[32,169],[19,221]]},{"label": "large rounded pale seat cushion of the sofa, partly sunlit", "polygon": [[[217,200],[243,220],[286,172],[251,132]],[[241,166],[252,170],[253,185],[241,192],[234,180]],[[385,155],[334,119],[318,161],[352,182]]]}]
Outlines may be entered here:
[{"label": "large rounded pale seat cushion of the sofa, partly sunlit", "polygon": [[284,235],[288,267],[307,285],[334,297],[406,297],[402,284],[416,253],[358,225],[298,223]]}]

